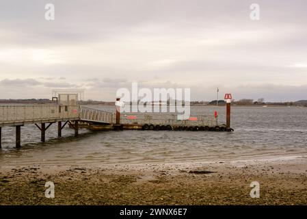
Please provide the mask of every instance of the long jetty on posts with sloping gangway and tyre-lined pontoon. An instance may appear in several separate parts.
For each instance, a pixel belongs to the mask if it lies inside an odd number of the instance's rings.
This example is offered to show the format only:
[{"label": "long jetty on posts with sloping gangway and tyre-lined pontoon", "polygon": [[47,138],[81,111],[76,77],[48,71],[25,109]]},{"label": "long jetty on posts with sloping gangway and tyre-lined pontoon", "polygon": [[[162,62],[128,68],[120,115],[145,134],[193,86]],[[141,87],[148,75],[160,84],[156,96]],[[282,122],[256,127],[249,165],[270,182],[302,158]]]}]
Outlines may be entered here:
[{"label": "long jetty on posts with sloping gangway and tyre-lined pontoon", "polygon": [[227,123],[219,125],[214,116],[191,115],[186,120],[178,119],[170,113],[120,114],[106,112],[80,105],[0,105],[0,148],[3,127],[15,127],[16,148],[21,147],[21,127],[35,125],[45,142],[46,131],[57,123],[57,136],[62,137],[62,129],[68,124],[75,130],[174,130],[174,131],[233,131],[230,128],[230,103],[227,104]]}]

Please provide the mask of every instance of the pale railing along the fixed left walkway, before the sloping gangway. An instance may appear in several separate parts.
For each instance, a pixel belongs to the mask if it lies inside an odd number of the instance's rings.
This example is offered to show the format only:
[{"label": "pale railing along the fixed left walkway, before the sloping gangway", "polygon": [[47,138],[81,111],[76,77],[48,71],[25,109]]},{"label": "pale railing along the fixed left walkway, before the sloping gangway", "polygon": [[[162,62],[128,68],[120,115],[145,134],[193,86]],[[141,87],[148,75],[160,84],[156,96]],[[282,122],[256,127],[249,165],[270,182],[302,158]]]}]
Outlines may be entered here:
[{"label": "pale railing along the fixed left walkway, before the sloping gangway", "polygon": [[78,105],[0,105],[0,125],[79,120]]}]

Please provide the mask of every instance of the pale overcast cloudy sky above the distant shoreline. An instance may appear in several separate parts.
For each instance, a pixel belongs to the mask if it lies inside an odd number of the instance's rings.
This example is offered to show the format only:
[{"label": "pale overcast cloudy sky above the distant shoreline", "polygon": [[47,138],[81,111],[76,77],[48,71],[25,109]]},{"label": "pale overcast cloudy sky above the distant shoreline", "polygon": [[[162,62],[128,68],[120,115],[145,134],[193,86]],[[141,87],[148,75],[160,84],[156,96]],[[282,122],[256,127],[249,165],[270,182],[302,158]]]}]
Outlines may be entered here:
[{"label": "pale overcast cloudy sky above the distant shoreline", "polygon": [[191,88],[192,100],[215,99],[217,87],[234,99],[307,99],[306,10],[306,0],[0,0],[0,99],[77,88],[114,101],[132,81]]}]

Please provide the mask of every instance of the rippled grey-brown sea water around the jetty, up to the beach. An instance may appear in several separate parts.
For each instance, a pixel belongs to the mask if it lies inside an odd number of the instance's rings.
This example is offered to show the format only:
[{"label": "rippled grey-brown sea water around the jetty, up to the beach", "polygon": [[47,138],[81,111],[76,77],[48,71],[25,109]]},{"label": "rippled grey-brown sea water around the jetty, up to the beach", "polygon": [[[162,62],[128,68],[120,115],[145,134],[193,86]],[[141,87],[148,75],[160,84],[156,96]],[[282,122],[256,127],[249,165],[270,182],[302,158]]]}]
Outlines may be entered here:
[{"label": "rippled grey-brown sea water around the jetty, up to the beach", "polygon": [[[106,107],[104,110],[114,110]],[[191,107],[211,114],[215,107]],[[225,107],[218,107],[224,123]],[[22,147],[14,149],[14,128],[4,127],[0,165],[10,164],[148,164],[201,162],[307,154],[307,107],[232,107],[234,132],[82,130],[79,138],[68,127],[57,138],[57,127],[46,133],[22,127]]]}]

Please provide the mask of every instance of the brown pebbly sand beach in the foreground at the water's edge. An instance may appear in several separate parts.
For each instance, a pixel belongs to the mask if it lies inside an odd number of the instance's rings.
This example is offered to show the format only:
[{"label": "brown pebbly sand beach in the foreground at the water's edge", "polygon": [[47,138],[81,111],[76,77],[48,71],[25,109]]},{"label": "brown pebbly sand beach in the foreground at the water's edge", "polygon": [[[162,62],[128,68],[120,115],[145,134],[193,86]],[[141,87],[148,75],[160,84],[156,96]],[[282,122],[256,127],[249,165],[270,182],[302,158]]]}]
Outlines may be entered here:
[{"label": "brown pebbly sand beach in the foreground at the water's edge", "polygon": [[[0,205],[307,205],[304,156],[0,170]],[[55,198],[44,196],[46,181],[55,184]],[[260,198],[250,197],[252,181]]]}]

